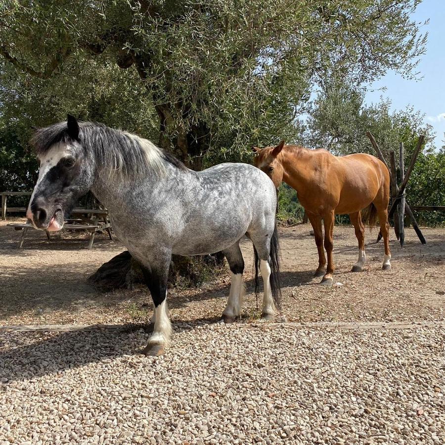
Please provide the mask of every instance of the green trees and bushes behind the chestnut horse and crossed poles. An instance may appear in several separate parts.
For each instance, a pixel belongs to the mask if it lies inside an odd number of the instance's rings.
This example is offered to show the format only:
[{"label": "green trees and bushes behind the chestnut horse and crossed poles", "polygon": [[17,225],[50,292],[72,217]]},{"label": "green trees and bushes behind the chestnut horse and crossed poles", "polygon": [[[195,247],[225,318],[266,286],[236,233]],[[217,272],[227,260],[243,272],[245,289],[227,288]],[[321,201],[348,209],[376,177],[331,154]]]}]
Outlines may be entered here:
[{"label": "green trees and bushes behind the chestnut horse and crossed poles", "polygon": [[[432,126],[412,107],[390,111],[391,102],[364,104],[364,92],[344,82],[331,81],[318,92],[309,111],[303,143],[312,148],[327,148],[334,154],[369,153],[375,151],[366,136],[375,136],[389,165],[389,152],[399,153],[403,142],[405,168],[409,165],[420,134],[425,142],[417,158],[406,189],[411,205],[445,205],[445,147],[434,146]],[[399,156],[396,156],[398,162]],[[400,172],[398,172],[400,174]],[[420,215],[421,223],[444,223],[443,215],[432,212]]]}]

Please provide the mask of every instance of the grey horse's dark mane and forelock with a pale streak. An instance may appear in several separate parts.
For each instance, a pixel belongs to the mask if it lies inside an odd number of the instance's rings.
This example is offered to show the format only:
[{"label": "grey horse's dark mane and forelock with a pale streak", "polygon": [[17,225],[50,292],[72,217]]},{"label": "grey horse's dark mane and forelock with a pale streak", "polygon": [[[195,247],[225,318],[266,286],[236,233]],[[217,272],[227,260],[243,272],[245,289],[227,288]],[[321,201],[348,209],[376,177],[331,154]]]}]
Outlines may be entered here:
[{"label": "grey horse's dark mane and forelock with a pale streak", "polygon": [[[114,130],[104,124],[95,122],[78,122],[79,141],[85,150],[94,150],[96,162],[104,167],[122,170],[126,175],[146,173],[150,167],[149,156],[146,156],[146,139]],[[48,127],[39,128],[30,140],[38,155],[45,154],[56,143],[69,143],[73,139],[68,134],[66,122],[59,122]],[[177,167],[186,170],[185,165],[171,153],[157,148],[160,157]]]}]

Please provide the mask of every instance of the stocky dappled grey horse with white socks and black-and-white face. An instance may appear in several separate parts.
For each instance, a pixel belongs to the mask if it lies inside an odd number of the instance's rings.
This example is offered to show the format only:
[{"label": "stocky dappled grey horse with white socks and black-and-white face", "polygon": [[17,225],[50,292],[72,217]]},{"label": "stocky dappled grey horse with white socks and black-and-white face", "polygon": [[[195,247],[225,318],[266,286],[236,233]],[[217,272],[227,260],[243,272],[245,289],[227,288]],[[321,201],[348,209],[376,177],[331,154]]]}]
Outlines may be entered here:
[{"label": "stocky dappled grey horse with white socks and black-and-white face", "polygon": [[245,287],[239,248],[246,234],[264,281],[263,317],[279,306],[276,191],[261,170],[220,164],[187,169],[170,154],[134,134],[68,116],[36,130],[40,160],[27,217],[35,227],[60,230],[78,199],[91,190],[110,212],[113,230],[142,266],[153,299],[154,328],[145,353],[158,356],[171,335],[167,275],[176,255],[223,251],[231,271],[224,321],[239,316]]}]

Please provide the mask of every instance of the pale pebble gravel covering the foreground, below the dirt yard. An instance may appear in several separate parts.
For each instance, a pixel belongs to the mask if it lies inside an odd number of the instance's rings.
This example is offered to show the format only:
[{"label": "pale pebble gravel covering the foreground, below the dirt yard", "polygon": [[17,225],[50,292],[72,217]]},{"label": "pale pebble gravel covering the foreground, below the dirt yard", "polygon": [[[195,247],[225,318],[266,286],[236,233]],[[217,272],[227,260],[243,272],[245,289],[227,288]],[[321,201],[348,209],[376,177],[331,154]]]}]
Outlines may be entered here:
[{"label": "pale pebble gravel covering the foreground, below the dirt yard", "polygon": [[0,332],[0,444],[444,444],[443,324]]}]

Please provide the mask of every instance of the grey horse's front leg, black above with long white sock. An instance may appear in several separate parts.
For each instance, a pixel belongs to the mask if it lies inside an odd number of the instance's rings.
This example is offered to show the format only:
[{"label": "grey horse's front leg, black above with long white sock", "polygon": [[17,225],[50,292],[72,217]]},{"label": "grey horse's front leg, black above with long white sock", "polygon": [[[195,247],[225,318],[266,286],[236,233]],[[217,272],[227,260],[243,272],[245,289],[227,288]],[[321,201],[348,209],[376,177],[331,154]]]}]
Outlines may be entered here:
[{"label": "grey horse's front leg, black above with long white sock", "polygon": [[147,356],[164,354],[172,333],[172,324],[170,323],[167,307],[167,279],[172,255],[171,252],[165,251],[157,253],[159,253],[158,256],[152,255],[152,258],[144,262],[141,267],[145,283],[150,289],[153,299],[154,311],[153,333],[144,350],[144,354]]}]

